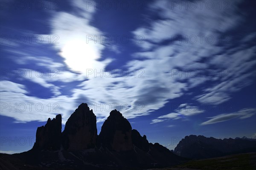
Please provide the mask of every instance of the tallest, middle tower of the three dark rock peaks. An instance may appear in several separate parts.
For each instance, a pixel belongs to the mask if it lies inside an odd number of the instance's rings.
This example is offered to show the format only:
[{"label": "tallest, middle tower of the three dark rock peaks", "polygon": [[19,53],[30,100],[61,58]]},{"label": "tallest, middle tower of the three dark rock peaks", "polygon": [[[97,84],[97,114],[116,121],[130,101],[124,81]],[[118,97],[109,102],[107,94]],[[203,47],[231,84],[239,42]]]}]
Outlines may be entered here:
[{"label": "tallest, middle tower of the three dark rock peaks", "polygon": [[65,150],[93,148],[96,137],[96,116],[86,103],[82,103],[66,122],[62,134],[63,148]]}]

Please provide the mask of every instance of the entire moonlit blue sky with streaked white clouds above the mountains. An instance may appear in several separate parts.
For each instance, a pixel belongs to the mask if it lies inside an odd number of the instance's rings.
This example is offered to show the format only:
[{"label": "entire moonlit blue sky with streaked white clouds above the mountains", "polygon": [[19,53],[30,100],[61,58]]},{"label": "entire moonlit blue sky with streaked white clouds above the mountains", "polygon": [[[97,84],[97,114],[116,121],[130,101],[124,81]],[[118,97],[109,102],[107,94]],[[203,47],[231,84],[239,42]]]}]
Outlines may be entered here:
[{"label": "entire moonlit blue sky with streaked white clouds above the mountains", "polygon": [[1,0],[0,151],[85,102],[149,142],[256,137],[255,2]]}]

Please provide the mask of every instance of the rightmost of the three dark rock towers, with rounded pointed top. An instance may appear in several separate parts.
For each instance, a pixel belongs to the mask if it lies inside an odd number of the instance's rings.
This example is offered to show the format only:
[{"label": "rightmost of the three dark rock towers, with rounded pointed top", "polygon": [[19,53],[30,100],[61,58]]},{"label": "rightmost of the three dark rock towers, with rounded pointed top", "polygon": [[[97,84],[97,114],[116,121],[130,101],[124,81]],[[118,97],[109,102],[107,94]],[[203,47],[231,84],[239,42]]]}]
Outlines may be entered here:
[{"label": "rightmost of the three dark rock towers, with rounded pointed top", "polygon": [[133,149],[131,125],[119,111],[111,111],[99,133],[99,147],[109,150],[127,151]]}]

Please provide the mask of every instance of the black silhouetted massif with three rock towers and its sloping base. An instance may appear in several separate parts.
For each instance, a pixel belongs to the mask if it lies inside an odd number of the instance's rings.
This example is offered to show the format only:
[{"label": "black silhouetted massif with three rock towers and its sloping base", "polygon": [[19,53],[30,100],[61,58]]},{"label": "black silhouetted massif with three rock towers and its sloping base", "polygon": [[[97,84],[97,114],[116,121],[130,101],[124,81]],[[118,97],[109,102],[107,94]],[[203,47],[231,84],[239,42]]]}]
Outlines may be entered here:
[{"label": "black silhouetted massif with three rock towers and its sloping base", "polygon": [[[97,135],[96,116],[82,103],[61,132],[61,115],[38,127],[33,148],[0,154],[3,170],[119,170],[167,167],[187,159],[149,143],[119,111],[111,111]],[[52,170],[51,169],[51,170]]]}]

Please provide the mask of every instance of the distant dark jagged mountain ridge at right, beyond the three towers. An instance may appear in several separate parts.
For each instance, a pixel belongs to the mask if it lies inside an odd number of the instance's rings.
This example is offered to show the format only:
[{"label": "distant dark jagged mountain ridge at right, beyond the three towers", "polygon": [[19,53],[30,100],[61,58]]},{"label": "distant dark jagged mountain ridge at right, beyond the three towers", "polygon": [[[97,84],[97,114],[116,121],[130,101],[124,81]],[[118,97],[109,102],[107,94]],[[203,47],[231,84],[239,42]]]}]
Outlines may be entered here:
[{"label": "distant dark jagged mountain ridge at right, beyond the three towers", "polygon": [[182,139],[174,153],[190,159],[204,159],[236,153],[256,152],[256,139],[215,139],[205,136],[190,135]]}]

